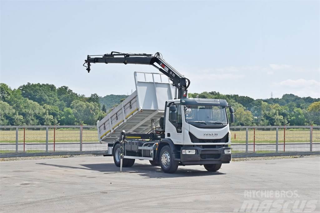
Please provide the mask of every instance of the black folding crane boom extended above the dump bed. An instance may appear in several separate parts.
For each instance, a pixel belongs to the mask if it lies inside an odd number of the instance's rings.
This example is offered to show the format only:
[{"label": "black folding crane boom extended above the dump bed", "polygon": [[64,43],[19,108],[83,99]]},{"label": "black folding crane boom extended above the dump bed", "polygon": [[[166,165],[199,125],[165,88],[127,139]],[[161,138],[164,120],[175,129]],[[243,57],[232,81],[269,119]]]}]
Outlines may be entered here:
[{"label": "black folding crane boom extended above the dump bed", "polygon": [[[99,57],[96,57],[99,56]],[[87,59],[84,60],[84,64],[87,63],[88,66],[86,70],[90,72],[91,63],[118,63],[118,64],[146,64],[156,67],[161,73],[168,76],[172,81],[172,85],[178,90],[179,98],[187,98],[188,87],[190,81],[188,78],[181,75],[177,70],[175,70],[170,64],[168,64],[159,52],[154,56],[152,54],[145,53],[121,53],[112,51],[110,54],[104,55],[88,55]],[[160,66],[160,67],[159,67]],[[188,83],[187,83],[188,82]]]}]

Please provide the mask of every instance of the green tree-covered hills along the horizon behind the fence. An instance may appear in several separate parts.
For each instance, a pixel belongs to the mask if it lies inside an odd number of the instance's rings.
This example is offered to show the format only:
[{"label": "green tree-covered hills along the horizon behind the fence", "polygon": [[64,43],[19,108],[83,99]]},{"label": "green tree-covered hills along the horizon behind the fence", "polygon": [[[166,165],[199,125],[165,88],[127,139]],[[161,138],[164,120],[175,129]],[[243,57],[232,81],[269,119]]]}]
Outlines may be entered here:
[{"label": "green tree-covered hills along the horizon behind the fence", "polygon": [[[27,83],[11,89],[0,83],[0,125],[95,125],[126,95],[90,97],[67,86]],[[320,98],[284,94],[282,98],[252,99],[216,91],[189,93],[190,98],[226,99],[235,109],[235,124],[320,125]]]}]

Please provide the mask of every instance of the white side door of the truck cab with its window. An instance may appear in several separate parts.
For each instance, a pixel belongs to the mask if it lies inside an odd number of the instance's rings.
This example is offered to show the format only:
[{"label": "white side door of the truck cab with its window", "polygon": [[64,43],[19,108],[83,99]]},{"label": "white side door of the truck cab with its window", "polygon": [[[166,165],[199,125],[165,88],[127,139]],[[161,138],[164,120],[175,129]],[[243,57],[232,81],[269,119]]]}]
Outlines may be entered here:
[{"label": "white side door of the truck cab with its window", "polygon": [[173,104],[166,110],[165,138],[174,144],[183,144],[181,105]]}]

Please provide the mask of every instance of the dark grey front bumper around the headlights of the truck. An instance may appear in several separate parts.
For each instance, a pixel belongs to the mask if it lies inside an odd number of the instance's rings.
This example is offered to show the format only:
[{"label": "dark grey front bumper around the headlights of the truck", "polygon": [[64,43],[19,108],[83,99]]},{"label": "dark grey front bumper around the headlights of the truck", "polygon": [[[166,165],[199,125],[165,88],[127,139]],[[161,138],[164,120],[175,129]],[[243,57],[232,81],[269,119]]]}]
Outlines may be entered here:
[{"label": "dark grey front bumper around the headlights of the truck", "polygon": [[[194,149],[196,154],[182,154],[182,149]],[[224,154],[225,149],[230,147],[221,147],[219,149],[202,149],[198,147],[181,147],[180,160],[183,165],[203,165],[216,163],[229,163],[231,154]]]}]

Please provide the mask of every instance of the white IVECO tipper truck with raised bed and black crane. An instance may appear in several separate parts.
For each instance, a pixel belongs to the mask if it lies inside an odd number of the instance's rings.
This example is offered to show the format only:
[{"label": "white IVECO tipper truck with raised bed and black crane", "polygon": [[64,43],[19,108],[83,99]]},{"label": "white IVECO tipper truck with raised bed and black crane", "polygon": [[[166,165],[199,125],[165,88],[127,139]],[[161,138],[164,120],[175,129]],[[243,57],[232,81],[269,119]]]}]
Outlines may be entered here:
[{"label": "white IVECO tipper truck with raised bed and black crane", "polygon": [[145,64],[160,72],[134,72],[136,91],[97,121],[99,140],[108,143],[105,156],[113,156],[116,166],[149,160],[174,173],[186,165],[218,171],[231,161],[234,109],[223,99],[188,98],[190,80],[159,52],[88,55],[83,64],[88,73],[92,63]]}]

